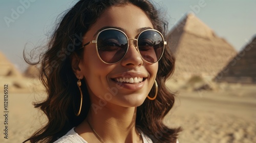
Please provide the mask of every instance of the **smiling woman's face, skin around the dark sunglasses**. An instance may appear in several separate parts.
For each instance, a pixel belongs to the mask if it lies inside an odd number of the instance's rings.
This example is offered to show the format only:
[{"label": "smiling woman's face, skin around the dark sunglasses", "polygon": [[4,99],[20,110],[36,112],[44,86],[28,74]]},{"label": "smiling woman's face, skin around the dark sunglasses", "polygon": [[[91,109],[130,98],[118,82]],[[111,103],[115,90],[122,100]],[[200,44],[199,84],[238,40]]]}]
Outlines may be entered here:
[{"label": "smiling woman's face, skin around the dark sunglasses", "polygon": [[[144,28],[153,29],[153,24],[147,15],[134,5],[110,7],[84,35],[83,44],[95,40],[103,27],[118,27],[130,39],[136,38]],[[153,87],[158,63],[149,64],[142,60],[133,42],[135,41],[129,40],[129,49],[124,58],[111,65],[98,58],[96,44],[84,47],[83,59],[79,62],[80,76],[84,77],[94,104],[135,107],[144,102]],[[129,79],[129,82],[121,82],[121,79]],[[138,82],[131,83],[132,80]],[[142,82],[139,82],[140,80]]]}]

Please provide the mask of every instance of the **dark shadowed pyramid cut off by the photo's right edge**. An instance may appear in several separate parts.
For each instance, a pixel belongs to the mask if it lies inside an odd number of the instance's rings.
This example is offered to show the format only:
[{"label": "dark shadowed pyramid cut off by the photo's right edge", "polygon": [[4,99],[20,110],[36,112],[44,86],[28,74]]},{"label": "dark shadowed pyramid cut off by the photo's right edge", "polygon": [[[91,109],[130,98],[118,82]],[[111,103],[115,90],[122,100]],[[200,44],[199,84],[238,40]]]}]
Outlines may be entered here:
[{"label": "dark shadowed pyramid cut off by the photo's right edge", "polygon": [[256,84],[256,36],[218,73],[215,80]]}]

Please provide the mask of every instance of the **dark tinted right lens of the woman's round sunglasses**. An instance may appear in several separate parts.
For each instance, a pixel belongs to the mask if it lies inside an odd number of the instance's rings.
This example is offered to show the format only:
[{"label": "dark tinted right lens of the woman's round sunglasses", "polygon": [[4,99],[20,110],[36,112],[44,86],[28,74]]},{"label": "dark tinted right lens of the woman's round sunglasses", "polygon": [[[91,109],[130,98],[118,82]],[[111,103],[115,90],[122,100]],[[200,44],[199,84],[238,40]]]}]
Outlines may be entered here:
[{"label": "dark tinted right lens of the woman's round sunglasses", "polygon": [[138,37],[138,46],[142,58],[150,63],[156,63],[162,56],[164,40],[156,31],[144,31]]}]

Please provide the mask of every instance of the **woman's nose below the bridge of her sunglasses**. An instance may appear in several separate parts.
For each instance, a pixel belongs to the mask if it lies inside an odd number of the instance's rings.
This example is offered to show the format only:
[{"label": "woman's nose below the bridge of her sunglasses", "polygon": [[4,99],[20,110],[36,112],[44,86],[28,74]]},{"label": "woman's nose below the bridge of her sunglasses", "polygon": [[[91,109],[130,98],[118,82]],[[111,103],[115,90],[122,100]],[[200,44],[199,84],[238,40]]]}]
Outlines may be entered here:
[{"label": "woman's nose below the bridge of her sunglasses", "polygon": [[143,60],[139,53],[139,49],[137,46],[137,39],[128,39],[129,47],[128,51],[125,54],[124,58],[121,61],[122,66],[124,67],[136,67],[141,66],[143,64]]}]

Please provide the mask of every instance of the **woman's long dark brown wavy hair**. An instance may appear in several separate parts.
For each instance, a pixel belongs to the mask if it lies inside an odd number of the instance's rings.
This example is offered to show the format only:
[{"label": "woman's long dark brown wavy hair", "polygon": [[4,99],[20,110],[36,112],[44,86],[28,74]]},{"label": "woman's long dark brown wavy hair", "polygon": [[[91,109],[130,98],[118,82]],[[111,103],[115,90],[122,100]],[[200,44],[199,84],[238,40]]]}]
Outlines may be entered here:
[{"label": "woman's long dark brown wavy hair", "polygon": [[[81,0],[75,4],[57,24],[46,51],[40,54],[40,80],[47,91],[47,98],[35,103],[48,118],[48,123],[36,131],[24,142],[54,142],[65,135],[72,127],[78,126],[86,117],[90,108],[89,93],[82,81],[84,95],[80,116],[75,116],[74,106],[80,104],[80,92],[76,85],[77,78],[71,68],[72,55],[82,57],[82,36],[87,33],[97,18],[111,6],[133,4],[142,9],[151,19],[154,28],[166,39],[167,22],[160,17],[160,12],[147,0]],[[24,59],[29,62],[24,54]],[[163,118],[174,105],[174,94],[165,86],[165,80],[173,73],[175,59],[166,46],[159,61],[156,80],[158,96],[154,101],[145,99],[137,107],[136,126],[150,136],[153,142],[176,142],[180,128],[168,128]],[[154,96],[154,88],[150,96]]]}]

